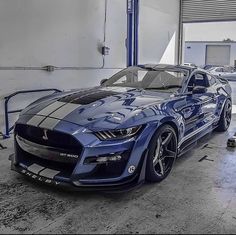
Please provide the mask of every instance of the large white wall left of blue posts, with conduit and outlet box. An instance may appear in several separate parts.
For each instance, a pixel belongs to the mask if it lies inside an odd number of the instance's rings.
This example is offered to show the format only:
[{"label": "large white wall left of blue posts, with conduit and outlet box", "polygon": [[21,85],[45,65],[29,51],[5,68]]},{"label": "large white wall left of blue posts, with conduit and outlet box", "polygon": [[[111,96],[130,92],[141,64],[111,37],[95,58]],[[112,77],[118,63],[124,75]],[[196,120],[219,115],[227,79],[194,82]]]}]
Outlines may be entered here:
[{"label": "large white wall left of blue posts, with conduit and outlet box", "polygon": [[[126,66],[126,0],[107,1],[105,58],[100,48],[104,41],[105,0],[1,0],[1,66],[76,66],[85,70],[45,71],[0,70],[0,131],[3,130],[2,98],[21,89],[56,87],[71,89],[99,84],[117,68]],[[19,108],[36,97],[20,97]]]}]

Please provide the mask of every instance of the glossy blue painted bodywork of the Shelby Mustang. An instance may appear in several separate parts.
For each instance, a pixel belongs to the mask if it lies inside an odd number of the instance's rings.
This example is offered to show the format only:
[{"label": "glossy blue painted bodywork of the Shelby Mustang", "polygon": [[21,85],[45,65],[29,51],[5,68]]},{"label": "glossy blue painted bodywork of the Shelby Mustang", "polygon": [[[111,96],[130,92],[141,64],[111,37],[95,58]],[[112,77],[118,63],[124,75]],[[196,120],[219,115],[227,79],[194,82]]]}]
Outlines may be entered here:
[{"label": "glossy blue painted bodywork of the Shelby Mustang", "polygon": [[[195,142],[202,135],[217,127],[224,103],[231,99],[231,88],[227,82],[216,79],[207,87],[204,94],[187,92],[190,78],[197,73],[207,75],[207,72],[197,68],[180,67],[187,70],[188,76],[183,81],[182,88],[177,93],[165,93],[129,87],[95,87],[46,97],[33,103],[21,113],[16,125],[24,124],[39,112],[54,102],[61,102],[63,97],[71,97],[85,92],[88,99],[96,93],[109,94],[88,104],[78,106],[68,115],[57,120],[53,131],[73,136],[82,146],[80,159],[68,179],[72,185],[106,187],[125,184],[131,178],[137,182],[145,162],[145,152],[158,128],[168,123],[176,129],[179,153],[186,146]],[[83,96],[83,97],[84,97]],[[68,99],[69,99],[68,98]],[[66,104],[65,104],[66,105]],[[52,110],[52,113],[55,110]],[[50,115],[49,115],[50,116]],[[47,116],[45,116],[45,119]],[[134,137],[125,139],[100,140],[95,132],[114,129],[126,129],[142,125],[142,131]],[[88,157],[120,154],[128,152],[128,159],[121,173],[114,177],[94,177],[97,165],[85,164]],[[17,152],[16,165],[21,161]],[[130,166],[135,166],[134,174],[128,172]],[[14,166],[14,169],[16,166]],[[57,179],[60,179],[60,177]]]}]

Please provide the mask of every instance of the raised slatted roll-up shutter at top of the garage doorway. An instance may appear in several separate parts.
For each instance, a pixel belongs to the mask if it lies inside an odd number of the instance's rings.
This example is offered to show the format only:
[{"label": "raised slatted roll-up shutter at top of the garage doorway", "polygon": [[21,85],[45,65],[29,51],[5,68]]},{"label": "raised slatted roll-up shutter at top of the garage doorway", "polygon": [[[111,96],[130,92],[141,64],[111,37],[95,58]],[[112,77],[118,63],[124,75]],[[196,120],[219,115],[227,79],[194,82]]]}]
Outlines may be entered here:
[{"label": "raised slatted roll-up shutter at top of the garage doorway", "polygon": [[182,0],[183,23],[236,21],[236,0]]}]

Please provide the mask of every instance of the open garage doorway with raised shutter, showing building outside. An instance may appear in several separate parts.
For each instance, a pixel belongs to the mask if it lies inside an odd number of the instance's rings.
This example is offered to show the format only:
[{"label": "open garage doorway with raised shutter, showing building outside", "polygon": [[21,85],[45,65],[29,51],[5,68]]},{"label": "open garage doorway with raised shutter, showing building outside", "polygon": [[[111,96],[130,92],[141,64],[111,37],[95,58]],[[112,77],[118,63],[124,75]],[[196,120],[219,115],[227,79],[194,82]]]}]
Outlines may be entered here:
[{"label": "open garage doorway with raised shutter, showing building outside", "polygon": [[[235,66],[236,1],[181,0],[181,16],[184,46],[180,61]],[[230,27],[230,35],[223,35]]]}]

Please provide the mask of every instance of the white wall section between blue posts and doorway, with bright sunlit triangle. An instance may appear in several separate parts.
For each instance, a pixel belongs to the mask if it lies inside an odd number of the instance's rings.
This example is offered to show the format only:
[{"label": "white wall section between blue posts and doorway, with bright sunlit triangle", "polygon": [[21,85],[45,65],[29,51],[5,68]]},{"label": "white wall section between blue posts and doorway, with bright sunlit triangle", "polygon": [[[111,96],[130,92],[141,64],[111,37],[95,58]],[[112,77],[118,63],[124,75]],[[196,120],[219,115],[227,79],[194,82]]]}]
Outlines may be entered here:
[{"label": "white wall section between blue posts and doorway, with bright sunlit triangle", "polygon": [[140,1],[140,63],[177,63],[179,2]]}]

